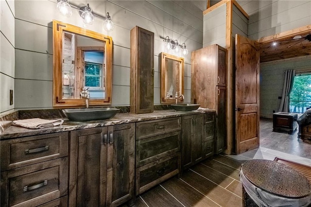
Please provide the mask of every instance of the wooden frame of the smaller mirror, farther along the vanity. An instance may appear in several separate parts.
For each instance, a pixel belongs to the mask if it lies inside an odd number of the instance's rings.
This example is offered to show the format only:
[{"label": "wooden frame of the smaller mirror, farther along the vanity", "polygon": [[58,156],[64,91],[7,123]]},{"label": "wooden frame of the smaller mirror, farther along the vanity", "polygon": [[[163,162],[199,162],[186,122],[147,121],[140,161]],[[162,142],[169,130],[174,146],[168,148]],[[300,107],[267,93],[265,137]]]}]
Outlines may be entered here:
[{"label": "wooden frame of the smaller mirror, farther along the vanity", "polygon": [[[173,78],[178,78],[179,80],[179,88],[180,88],[180,93],[178,95],[184,94],[184,58],[182,57],[177,57],[172,54],[168,54],[165,52],[161,52],[161,104],[174,104],[175,103],[175,94],[173,95],[173,98],[168,99],[166,97],[167,91],[165,91],[165,84],[167,80],[167,69],[166,69],[166,64],[165,61],[166,59],[172,59],[175,61],[180,62],[180,72],[179,72],[179,77],[173,77]],[[174,79],[175,80],[175,79]],[[175,82],[175,81],[174,81]],[[179,99],[178,102],[184,102],[184,100]]]}]

